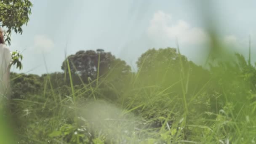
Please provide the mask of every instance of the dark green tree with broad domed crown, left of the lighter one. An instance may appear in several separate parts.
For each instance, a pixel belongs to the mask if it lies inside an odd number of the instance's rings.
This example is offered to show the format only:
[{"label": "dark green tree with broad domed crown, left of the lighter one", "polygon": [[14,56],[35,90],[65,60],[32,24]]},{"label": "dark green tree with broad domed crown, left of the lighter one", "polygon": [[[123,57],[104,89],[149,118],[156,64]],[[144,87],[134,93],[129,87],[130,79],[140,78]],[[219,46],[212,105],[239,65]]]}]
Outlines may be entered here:
[{"label": "dark green tree with broad domed crown, left of the lighter one", "polygon": [[[67,60],[72,76],[80,76],[84,82],[88,82],[88,77],[95,80],[98,75],[101,77],[107,74],[114,80],[131,72],[131,67],[125,61],[115,58],[110,52],[104,52],[102,49],[98,49],[97,52],[78,51],[74,55],[68,56],[61,66],[61,69],[68,73]],[[76,78],[75,81],[79,80]]]}]

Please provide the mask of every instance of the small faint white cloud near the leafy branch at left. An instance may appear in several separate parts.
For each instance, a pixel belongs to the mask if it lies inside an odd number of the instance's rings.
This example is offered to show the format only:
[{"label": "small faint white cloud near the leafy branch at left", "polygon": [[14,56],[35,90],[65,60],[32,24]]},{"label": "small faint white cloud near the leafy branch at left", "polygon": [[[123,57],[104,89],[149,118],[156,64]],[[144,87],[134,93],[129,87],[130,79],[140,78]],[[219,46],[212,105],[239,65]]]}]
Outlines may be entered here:
[{"label": "small faint white cloud near the leafy branch at left", "polygon": [[49,52],[54,47],[53,40],[45,35],[36,35],[34,37],[34,49],[43,52]]}]

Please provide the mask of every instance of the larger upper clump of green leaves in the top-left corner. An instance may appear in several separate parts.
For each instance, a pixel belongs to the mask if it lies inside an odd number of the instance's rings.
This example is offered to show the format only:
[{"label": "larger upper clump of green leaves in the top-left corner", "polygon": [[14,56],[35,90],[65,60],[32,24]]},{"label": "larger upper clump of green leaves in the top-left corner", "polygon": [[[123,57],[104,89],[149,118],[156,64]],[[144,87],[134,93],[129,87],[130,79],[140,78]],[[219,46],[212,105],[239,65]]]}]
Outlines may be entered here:
[{"label": "larger upper clump of green leaves in the top-left corner", "polygon": [[29,0],[0,0],[0,27],[6,27],[5,35],[11,44],[11,31],[22,34],[22,26],[27,25],[32,3]]}]

